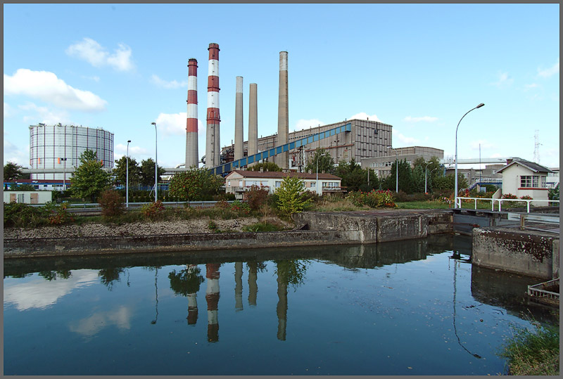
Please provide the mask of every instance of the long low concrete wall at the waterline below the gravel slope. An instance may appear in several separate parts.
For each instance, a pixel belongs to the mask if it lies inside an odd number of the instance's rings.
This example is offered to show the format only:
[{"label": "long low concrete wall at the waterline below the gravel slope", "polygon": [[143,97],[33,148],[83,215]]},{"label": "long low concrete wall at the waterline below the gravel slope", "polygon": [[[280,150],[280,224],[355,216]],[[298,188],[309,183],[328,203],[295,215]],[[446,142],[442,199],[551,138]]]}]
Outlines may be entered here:
[{"label": "long low concrete wall at the waterline below the gravel slope", "polygon": [[358,243],[356,231],[289,231],[261,233],[194,233],[168,236],[4,239],[4,259],[129,252],[224,250],[280,246]]}]

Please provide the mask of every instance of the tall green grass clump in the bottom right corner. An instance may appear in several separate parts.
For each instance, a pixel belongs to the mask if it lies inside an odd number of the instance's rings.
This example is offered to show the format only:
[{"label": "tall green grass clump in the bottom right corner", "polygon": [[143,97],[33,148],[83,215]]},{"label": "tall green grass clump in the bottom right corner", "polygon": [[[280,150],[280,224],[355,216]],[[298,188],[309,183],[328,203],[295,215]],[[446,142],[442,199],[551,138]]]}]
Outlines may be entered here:
[{"label": "tall green grass clump in the bottom right corner", "polygon": [[[559,315],[557,314],[557,320]],[[510,375],[559,375],[559,324],[519,329],[503,347]]]}]

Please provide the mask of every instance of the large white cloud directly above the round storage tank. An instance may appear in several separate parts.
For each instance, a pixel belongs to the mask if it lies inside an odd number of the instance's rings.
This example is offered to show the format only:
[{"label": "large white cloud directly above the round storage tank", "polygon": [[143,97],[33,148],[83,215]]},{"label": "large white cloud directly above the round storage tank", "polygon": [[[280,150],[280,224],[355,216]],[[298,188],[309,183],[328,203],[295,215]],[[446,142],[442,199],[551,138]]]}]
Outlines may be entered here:
[{"label": "large white cloud directly above the round storage tank", "polygon": [[18,69],[13,76],[4,74],[4,94],[30,96],[61,108],[87,112],[105,110],[107,104],[90,91],[72,88],[53,72],[27,68]]}]

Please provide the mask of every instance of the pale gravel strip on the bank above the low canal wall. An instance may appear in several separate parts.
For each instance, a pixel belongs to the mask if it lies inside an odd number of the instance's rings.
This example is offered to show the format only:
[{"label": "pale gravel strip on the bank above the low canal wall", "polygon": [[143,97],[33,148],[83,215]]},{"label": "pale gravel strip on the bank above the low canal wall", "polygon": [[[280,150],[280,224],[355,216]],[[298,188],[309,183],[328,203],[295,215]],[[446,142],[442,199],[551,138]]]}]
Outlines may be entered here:
[{"label": "pale gravel strip on the bank above the low canal wall", "polygon": [[[156,221],[150,223],[136,222],[134,224],[105,225],[63,225],[43,226],[37,229],[4,229],[4,239],[8,238],[77,238],[77,237],[101,237],[101,236],[151,236],[159,234],[186,234],[186,233],[213,233],[208,227],[209,219],[179,220],[179,221]],[[291,225],[279,219],[257,219],[245,217],[239,219],[215,219],[218,229],[221,231],[242,231],[243,226],[255,224],[259,221],[268,221],[278,224],[284,228]]]}]

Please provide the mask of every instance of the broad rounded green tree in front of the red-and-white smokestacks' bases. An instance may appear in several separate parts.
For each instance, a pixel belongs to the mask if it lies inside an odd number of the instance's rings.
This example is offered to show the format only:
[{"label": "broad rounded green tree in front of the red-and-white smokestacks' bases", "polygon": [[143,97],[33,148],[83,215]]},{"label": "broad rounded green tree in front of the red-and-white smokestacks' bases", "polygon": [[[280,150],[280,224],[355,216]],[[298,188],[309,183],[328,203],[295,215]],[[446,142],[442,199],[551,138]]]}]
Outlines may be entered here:
[{"label": "broad rounded green tree in front of the red-and-white smokestacks' bases", "polygon": [[216,195],[223,184],[224,179],[221,176],[211,174],[205,167],[192,166],[188,171],[172,176],[169,188],[170,195],[194,201]]}]

